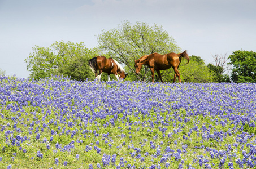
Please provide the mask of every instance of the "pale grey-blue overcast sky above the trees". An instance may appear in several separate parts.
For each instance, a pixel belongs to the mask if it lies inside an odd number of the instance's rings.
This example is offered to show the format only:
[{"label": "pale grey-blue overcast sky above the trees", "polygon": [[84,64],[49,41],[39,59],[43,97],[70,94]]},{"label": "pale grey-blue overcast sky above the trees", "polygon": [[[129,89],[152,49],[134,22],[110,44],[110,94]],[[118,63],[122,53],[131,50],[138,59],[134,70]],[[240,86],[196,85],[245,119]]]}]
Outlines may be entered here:
[{"label": "pale grey-blue overcast sky above the trees", "polygon": [[[25,59],[35,45],[84,42],[123,21],[162,26],[189,56],[256,51],[255,0],[0,0],[0,69],[27,78]],[[93,56],[92,56],[93,57]]]}]

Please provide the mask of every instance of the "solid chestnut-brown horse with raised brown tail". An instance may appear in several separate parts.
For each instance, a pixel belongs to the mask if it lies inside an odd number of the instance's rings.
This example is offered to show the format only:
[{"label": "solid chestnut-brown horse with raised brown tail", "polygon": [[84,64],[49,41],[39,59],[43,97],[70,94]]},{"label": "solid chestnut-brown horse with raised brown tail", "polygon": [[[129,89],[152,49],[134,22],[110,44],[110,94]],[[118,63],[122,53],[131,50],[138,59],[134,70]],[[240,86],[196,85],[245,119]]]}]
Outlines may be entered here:
[{"label": "solid chestnut-brown horse with raised brown tail", "polygon": [[181,83],[180,73],[178,68],[180,66],[182,58],[185,58],[186,60],[188,60],[188,63],[189,63],[189,56],[186,53],[186,51],[179,54],[169,53],[165,55],[160,55],[160,54],[154,53],[150,55],[144,55],[140,59],[135,60],[134,66],[136,68],[136,74],[140,74],[142,65],[147,65],[151,70],[152,82],[154,83],[154,74],[155,74],[155,71],[157,71],[157,74],[161,82],[163,83],[160,70],[166,70],[172,67],[175,72],[173,83],[175,82],[177,76],[178,76],[179,82]]}]

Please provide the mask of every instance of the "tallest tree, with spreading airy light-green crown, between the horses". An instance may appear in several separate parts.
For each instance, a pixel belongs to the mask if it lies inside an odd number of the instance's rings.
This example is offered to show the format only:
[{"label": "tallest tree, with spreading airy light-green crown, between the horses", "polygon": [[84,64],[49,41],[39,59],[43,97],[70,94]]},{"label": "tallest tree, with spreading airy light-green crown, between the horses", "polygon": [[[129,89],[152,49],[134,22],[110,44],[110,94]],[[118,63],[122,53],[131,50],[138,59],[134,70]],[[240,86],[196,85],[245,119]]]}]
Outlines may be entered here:
[{"label": "tallest tree, with spreading airy light-green crown, between the horses", "polygon": [[110,56],[114,57],[119,63],[123,63],[124,68],[129,73],[127,79],[147,81],[151,78],[149,68],[144,66],[141,75],[136,75],[134,60],[141,56],[158,52],[167,54],[169,52],[179,52],[180,47],[162,26],[137,22],[132,25],[124,21],[118,28],[97,35],[99,47]]}]

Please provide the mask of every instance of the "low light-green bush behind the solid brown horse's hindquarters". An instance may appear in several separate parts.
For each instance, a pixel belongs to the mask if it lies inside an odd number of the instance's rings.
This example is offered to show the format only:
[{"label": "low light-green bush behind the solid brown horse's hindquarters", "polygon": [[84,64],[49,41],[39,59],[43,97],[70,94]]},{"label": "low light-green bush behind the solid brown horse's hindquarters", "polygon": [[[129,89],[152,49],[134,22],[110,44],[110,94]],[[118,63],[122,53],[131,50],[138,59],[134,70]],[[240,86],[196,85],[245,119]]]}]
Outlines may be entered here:
[{"label": "low light-green bush behind the solid brown horse's hindquarters", "polygon": [[[163,81],[172,82],[174,70],[168,69],[162,71]],[[190,56],[189,64],[186,65],[186,60],[181,61],[179,66],[181,82],[190,83],[207,83],[214,82],[215,74],[210,71],[205,65],[205,62],[199,56]],[[177,79],[176,79],[177,82]]]}]

